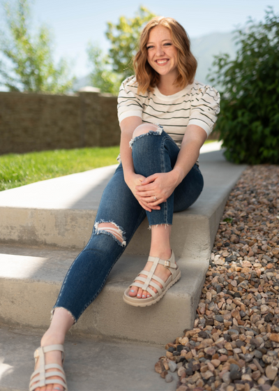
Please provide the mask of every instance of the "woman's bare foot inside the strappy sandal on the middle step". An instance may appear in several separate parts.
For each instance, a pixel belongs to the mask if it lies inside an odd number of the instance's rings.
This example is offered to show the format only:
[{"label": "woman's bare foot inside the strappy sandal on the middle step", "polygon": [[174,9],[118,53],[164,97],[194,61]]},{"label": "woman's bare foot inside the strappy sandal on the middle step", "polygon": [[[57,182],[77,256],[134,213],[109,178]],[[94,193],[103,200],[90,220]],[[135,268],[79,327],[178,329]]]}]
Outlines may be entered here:
[{"label": "woman's bare foot inside the strappy sandal on the middle step", "polygon": [[[163,251],[163,252],[158,252],[158,253],[156,252],[156,254],[150,253],[149,255],[156,257],[156,258],[158,257],[162,260],[168,260],[172,256],[172,250],[169,249],[169,250]],[[144,266],[144,270],[149,272],[149,270],[151,270],[152,265],[153,265],[152,262],[147,262],[146,265]],[[171,274],[172,273],[169,272],[167,267],[165,267],[163,265],[157,265],[156,270],[154,272],[154,275],[160,277],[160,279],[162,279],[164,282],[167,281],[167,279],[169,278],[169,276]],[[144,274],[140,274],[140,276],[146,278],[146,276]],[[137,281],[143,285],[142,281],[138,281],[137,279],[135,281]],[[163,286],[155,279],[151,279],[151,281],[157,283],[158,286],[160,286],[160,288],[163,288]],[[153,288],[153,286],[149,285],[149,288],[151,288],[155,293],[157,293],[156,288]],[[137,297],[138,299],[146,299],[146,297],[151,297],[151,294],[149,292],[147,292],[146,290],[142,290],[142,288],[138,288],[137,286],[131,286],[128,295],[130,297]]]}]

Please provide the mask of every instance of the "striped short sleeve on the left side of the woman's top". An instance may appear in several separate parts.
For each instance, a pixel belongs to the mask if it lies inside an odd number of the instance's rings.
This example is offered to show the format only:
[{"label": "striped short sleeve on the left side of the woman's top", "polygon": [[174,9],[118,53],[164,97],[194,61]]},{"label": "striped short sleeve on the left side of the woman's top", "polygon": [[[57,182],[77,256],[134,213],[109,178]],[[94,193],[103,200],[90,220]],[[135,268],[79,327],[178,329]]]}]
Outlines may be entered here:
[{"label": "striped short sleeve on the left side of the woman's top", "polygon": [[119,124],[127,117],[136,116],[142,118],[142,102],[137,94],[135,76],[131,76],[122,82],[117,101]]}]

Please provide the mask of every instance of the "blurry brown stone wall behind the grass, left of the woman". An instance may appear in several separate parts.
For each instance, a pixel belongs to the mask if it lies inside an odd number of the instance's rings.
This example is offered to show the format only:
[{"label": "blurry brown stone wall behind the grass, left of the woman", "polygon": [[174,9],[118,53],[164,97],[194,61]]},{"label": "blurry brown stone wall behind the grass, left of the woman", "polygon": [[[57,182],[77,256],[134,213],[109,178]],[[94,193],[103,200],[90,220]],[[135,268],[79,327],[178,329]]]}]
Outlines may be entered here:
[{"label": "blurry brown stone wall behind the grass, left of the woman", "polygon": [[119,145],[117,98],[0,92],[0,154]]}]

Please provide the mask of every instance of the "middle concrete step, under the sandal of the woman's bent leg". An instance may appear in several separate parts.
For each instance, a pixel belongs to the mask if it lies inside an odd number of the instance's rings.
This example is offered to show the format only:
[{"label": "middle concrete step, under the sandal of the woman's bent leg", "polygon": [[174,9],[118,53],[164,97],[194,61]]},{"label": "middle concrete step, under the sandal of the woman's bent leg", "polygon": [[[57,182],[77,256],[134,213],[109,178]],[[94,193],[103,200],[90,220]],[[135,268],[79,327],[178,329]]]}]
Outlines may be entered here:
[{"label": "middle concrete step, under the sandal of the woman's bent leg", "polygon": [[[63,278],[78,251],[0,246],[0,323],[47,328]],[[142,270],[146,256],[123,255],[73,333],[166,344],[193,327],[208,263],[177,258],[181,279],[151,307],[132,307],[123,292]]]}]

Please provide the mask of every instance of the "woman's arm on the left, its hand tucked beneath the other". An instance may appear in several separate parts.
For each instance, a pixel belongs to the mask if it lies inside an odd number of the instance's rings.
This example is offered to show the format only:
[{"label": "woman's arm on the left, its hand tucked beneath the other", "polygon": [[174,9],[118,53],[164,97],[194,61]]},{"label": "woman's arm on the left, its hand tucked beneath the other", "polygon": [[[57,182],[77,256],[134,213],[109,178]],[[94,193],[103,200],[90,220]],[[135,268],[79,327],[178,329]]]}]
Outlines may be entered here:
[{"label": "woman's arm on the left, its hand tucked beneath the other", "polygon": [[133,158],[132,158],[132,149],[129,146],[130,140],[133,138],[133,131],[137,126],[142,124],[142,119],[140,117],[127,117],[123,119],[120,123],[121,128],[121,141],[120,141],[120,155],[121,155],[121,163],[123,166],[123,174],[126,184],[128,185],[130,191],[132,191],[135,198],[137,198],[140,205],[145,209],[151,212],[152,209],[160,209],[157,205],[153,207],[149,207],[146,205],[147,202],[142,202],[140,197],[136,195],[136,186],[140,186],[144,179],[146,179],[143,175],[135,174]]}]

